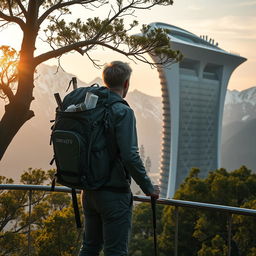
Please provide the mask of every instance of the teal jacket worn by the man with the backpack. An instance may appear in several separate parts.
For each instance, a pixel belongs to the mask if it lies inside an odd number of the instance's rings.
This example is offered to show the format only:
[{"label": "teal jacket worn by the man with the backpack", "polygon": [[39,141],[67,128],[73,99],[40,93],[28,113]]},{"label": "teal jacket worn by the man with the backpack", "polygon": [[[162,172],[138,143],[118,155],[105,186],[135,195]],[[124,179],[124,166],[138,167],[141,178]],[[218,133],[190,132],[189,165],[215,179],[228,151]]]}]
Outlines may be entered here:
[{"label": "teal jacket worn by the man with the backpack", "polygon": [[[121,96],[111,91],[110,99],[122,100]],[[130,187],[132,177],[145,194],[151,194],[154,188],[139,155],[133,110],[118,102],[112,106],[112,119],[119,157],[113,165],[110,180],[105,187]]]}]

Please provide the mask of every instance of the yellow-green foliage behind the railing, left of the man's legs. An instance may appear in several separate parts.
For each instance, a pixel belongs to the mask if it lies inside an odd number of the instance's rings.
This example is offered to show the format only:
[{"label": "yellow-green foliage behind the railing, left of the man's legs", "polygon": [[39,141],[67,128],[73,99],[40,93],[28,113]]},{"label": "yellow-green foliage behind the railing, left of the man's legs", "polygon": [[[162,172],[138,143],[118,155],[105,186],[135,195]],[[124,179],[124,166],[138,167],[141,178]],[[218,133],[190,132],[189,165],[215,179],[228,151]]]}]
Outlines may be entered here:
[{"label": "yellow-green foliage behind the railing, left of the man's legs", "polygon": [[[21,176],[22,184],[49,183],[53,170],[28,169]],[[13,183],[0,176],[0,184]],[[29,218],[28,191],[0,193],[0,256],[28,254],[28,223],[31,224],[31,254],[76,255],[81,232],[75,225],[71,197],[67,193],[32,192],[32,211]]]}]

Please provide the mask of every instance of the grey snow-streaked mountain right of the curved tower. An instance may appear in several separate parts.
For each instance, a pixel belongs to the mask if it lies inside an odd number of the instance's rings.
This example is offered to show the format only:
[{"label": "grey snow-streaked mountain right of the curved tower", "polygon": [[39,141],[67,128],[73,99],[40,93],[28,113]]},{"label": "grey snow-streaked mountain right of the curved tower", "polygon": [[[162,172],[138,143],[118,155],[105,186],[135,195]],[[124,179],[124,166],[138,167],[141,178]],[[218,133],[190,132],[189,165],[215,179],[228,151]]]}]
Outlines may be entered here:
[{"label": "grey snow-streaked mountain right of the curved tower", "polygon": [[241,165],[256,171],[256,87],[227,91],[223,129],[222,163],[227,170]]}]

